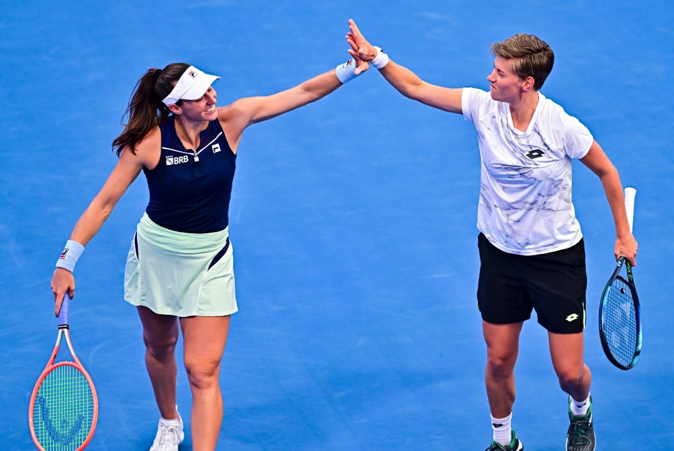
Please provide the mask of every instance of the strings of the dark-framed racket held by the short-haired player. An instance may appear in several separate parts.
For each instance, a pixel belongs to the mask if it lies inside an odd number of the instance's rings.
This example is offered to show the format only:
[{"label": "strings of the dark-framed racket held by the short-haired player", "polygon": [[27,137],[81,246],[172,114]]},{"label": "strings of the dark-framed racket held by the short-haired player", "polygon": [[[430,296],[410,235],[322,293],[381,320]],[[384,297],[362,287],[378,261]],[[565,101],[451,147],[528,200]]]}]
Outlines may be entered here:
[{"label": "strings of the dark-framed racket held by the short-haired player", "polygon": [[602,316],[603,331],[611,354],[621,365],[631,365],[638,346],[636,311],[632,289],[620,276],[608,289]]}]

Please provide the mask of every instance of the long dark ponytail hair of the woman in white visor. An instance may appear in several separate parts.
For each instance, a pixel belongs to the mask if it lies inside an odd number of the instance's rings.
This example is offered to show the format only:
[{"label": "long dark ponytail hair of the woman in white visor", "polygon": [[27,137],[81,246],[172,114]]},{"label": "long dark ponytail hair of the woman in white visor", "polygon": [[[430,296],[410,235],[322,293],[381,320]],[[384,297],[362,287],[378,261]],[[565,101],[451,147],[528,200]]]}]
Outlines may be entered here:
[{"label": "long dark ponytail hair of the woman in white visor", "polygon": [[124,113],[129,120],[124,125],[124,131],[112,141],[112,150],[117,156],[127,147],[136,153],[136,145],[171,114],[162,100],[189,66],[185,63],[168,64],[164,69],[151,68],[140,77]]}]

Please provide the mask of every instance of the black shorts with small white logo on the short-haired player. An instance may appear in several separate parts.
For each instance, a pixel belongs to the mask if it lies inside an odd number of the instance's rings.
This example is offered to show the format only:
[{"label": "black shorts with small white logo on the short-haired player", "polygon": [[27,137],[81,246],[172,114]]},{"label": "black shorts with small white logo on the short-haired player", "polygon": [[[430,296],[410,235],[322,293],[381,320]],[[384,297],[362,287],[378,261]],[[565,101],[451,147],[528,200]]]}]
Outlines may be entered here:
[{"label": "black shorts with small white logo on the short-haired player", "polygon": [[553,333],[579,333],[585,328],[583,240],[568,249],[541,255],[516,255],[477,237],[479,282],[477,307],[492,324],[522,322],[536,310],[538,323]]}]

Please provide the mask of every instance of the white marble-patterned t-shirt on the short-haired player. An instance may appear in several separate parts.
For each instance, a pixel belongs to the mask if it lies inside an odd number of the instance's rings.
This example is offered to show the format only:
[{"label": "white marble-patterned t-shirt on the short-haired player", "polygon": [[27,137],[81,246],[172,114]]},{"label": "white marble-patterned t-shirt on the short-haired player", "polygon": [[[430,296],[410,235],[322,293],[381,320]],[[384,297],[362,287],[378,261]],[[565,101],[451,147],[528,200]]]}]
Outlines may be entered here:
[{"label": "white marble-patterned t-shirt on the short-haired player", "polygon": [[477,228],[504,252],[538,255],[570,248],[582,238],[571,203],[571,159],[590,150],[590,131],[538,93],[527,131],[516,129],[510,105],[464,88],[482,159]]}]

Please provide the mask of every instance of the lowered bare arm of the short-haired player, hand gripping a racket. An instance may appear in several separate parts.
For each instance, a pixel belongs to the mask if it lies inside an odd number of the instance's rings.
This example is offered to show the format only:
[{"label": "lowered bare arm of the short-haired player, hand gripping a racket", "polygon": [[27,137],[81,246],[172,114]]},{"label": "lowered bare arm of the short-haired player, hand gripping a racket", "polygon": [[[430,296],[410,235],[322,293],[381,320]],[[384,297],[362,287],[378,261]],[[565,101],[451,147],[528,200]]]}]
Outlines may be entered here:
[{"label": "lowered bare arm of the short-haired player, hand gripping a racket", "polygon": [[623,185],[618,170],[608,159],[601,146],[597,144],[597,141],[592,142],[590,151],[580,161],[592,172],[595,172],[606,193],[616,226],[616,246],[614,249],[616,260],[623,255],[629,260],[629,263],[632,263],[632,266],[635,266],[636,252],[639,246],[634,239],[634,235],[629,231],[627,212],[625,211],[625,196],[623,195]]}]

